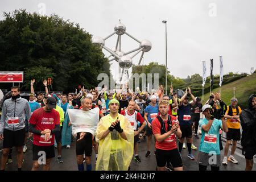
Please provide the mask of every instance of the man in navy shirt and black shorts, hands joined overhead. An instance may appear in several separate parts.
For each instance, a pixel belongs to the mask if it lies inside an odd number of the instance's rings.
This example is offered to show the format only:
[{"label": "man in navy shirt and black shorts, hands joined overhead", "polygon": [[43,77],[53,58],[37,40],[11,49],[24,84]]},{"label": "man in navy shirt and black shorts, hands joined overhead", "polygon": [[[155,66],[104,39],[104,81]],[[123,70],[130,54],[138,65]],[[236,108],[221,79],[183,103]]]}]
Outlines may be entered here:
[{"label": "man in navy shirt and black shorts, hands joined overhead", "polygon": [[[192,103],[188,103],[188,94],[191,96],[193,100]],[[179,140],[179,152],[181,156],[181,150],[183,147],[184,138],[186,138],[187,147],[188,147],[188,158],[192,160],[194,160],[195,157],[191,152],[191,146],[193,143],[192,125],[191,125],[191,109],[193,105],[195,105],[195,103],[196,103],[196,98],[191,93],[191,89],[187,88],[184,96],[182,96],[180,99],[179,110],[178,110],[180,130],[182,132],[182,136]]]}]

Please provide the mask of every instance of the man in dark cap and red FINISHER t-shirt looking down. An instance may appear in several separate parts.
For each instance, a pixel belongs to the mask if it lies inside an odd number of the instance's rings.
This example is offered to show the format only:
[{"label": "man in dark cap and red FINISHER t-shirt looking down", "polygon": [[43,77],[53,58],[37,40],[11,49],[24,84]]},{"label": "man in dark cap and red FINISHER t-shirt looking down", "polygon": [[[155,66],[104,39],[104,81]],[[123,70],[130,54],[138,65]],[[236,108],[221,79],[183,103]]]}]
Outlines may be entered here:
[{"label": "man in dark cap and red FINISHER t-shirt looking down", "polygon": [[30,132],[34,133],[32,171],[38,170],[40,164],[44,165],[44,171],[49,171],[51,159],[55,157],[54,134],[60,131],[60,114],[54,110],[56,104],[56,99],[49,97],[46,106],[31,115]]}]

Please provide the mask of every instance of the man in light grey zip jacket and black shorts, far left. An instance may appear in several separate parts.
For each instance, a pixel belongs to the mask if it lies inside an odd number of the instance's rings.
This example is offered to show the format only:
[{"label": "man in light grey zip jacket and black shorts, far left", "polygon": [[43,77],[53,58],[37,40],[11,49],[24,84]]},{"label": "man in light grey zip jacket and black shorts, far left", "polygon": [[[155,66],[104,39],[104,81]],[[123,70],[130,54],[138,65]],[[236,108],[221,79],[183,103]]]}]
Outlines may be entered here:
[{"label": "man in light grey zip jacket and black shorts, far left", "polygon": [[2,106],[0,120],[0,140],[3,140],[3,152],[0,170],[5,170],[10,148],[17,150],[18,171],[22,169],[23,144],[25,139],[25,115],[29,120],[31,110],[28,101],[20,97],[20,88],[11,87],[11,98],[5,100]]}]

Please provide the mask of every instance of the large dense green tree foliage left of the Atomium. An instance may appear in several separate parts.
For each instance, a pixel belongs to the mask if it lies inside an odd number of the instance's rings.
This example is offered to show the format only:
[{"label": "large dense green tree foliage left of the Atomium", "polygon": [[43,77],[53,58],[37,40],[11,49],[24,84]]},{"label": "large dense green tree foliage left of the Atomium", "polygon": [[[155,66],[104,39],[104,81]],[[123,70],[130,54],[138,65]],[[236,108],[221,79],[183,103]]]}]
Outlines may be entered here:
[{"label": "large dense green tree foliage left of the Atomium", "polygon": [[100,82],[99,73],[110,76],[110,65],[91,38],[79,24],[57,15],[40,16],[26,10],[4,13],[1,70],[24,71],[23,89],[28,89],[32,78],[42,84],[44,77],[52,77],[54,90],[70,92],[78,85],[94,88]]}]

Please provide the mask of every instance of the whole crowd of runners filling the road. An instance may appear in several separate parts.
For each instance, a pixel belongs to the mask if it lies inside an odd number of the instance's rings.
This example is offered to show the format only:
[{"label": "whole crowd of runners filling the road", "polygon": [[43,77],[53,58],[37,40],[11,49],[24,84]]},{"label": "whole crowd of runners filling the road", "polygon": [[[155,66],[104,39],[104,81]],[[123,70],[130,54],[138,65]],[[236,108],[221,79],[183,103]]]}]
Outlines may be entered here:
[{"label": "whole crowd of runners filling the road", "polygon": [[[43,165],[50,169],[57,148],[57,163],[63,163],[61,150],[71,148],[75,140],[77,168],[92,170],[92,152],[96,156],[96,170],[128,170],[131,160],[141,162],[154,153],[156,170],[183,170],[181,152],[195,160],[192,150],[199,150],[198,169],[218,171],[228,162],[238,164],[234,158],[237,141],[241,140],[246,170],[253,168],[256,154],[256,94],[249,97],[248,108],[241,110],[237,98],[226,105],[220,93],[213,93],[206,103],[195,97],[190,88],[183,95],[170,88],[164,95],[160,85],[155,92],[134,93],[130,89],[85,89],[75,93],[35,94],[35,80],[31,80],[30,98],[20,97],[20,88],[11,88],[11,97],[2,105],[0,140],[3,150],[0,170],[13,162],[16,149],[18,170],[22,170],[23,154],[32,139],[32,170]],[[240,129],[242,127],[242,135]],[[200,130],[199,130],[200,129]],[[200,132],[199,132],[200,131]],[[221,134],[226,133],[222,146]],[[201,137],[200,137],[201,135]],[[242,136],[242,137],[241,137]],[[151,151],[154,138],[155,150]],[[195,146],[193,138],[200,139]],[[146,154],[139,154],[139,143],[147,140]],[[232,144],[230,155],[229,146]],[[184,150],[187,148],[187,151]],[[224,156],[221,156],[224,150]],[[184,155],[183,155],[184,156]],[[150,165],[150,164],[148,164]]]}]

